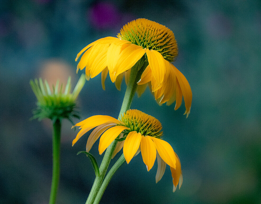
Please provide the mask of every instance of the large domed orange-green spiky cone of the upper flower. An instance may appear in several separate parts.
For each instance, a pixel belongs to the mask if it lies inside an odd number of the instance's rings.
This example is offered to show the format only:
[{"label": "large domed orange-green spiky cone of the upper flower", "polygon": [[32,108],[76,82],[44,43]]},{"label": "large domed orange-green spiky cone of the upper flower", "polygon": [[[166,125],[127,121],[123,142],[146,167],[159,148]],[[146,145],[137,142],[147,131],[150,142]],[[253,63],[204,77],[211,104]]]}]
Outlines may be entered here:
[{"label": "large domed orange-green spiky cone of the upper flower", "polygon": [[173,62],[178,55],[173,32],[166,26],[148,19],[139,18],[129,22],[122,27],[117,37],[143,48],[156,50],[169,62]]}]

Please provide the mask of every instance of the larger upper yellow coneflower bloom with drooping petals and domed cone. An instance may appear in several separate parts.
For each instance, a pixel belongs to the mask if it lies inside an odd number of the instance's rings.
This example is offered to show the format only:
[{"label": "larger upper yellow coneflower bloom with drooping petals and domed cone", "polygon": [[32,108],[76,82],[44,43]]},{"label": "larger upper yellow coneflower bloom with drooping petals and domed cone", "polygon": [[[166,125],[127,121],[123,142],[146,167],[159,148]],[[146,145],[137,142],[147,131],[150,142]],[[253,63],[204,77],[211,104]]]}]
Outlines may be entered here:
[{"label": "larger upper yellow coneflower bloom with drooping petals and domed cone", "polygon": [[78,53],[76,61],[83,52],[77,72],[85,68],[86,79],[102,72],[103,89],[109,72],[119,90],[123,76],[128,84],[130,69],[145,55],[149,65],[138,83],[138,95],[148,84],[158,103],[170,105],[176,100],[175,110],[180,107],[183,96],[184,114],[188,116],[192,92],[185,76],[171,64],[178,55],[178,48],[173,32],[167,27],[147,19],[133,20],[123,26],[117,37],[101,38],[87,45]]}]

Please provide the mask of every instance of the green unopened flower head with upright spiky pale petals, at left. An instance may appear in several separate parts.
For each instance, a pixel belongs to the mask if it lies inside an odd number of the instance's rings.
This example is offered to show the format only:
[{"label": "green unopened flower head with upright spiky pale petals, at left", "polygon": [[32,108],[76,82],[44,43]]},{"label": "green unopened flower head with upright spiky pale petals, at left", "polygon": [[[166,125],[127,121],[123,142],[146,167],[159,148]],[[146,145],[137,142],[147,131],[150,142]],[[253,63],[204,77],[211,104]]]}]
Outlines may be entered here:
[{"label": "green unopened flower head with upright spiky pale petals, at left", "polygon": [[51,120],[66,118],[72,121],[72,118],[79,118],[79,113],[76,109],[76,98],[79,95],[82,87],[85,84],[85,76],[81,75],[72,93],[71,78],[68,78],[64,92],[62,92],[62,85],[59,88],[59,80],[56,85],[50,89],[48,82],[40,78],[39,81],[31,80],[30,84],[32,90],[37,98],[37,108],[33,111],[33,119],[39,120],[50,118]]}]

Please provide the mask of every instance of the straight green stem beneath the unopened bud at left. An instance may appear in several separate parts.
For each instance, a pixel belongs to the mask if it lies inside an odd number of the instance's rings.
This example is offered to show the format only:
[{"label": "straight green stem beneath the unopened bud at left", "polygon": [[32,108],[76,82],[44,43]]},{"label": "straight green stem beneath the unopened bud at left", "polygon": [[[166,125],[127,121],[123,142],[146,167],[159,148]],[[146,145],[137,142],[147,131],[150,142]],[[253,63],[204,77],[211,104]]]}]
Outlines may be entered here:
[{"label": "straight green stem beneath the unopened bud at left", "polygon": [[55,204],[60,177],[60,138],[61,122],[56,119],[52,133],[52,186],[49,204]]}]

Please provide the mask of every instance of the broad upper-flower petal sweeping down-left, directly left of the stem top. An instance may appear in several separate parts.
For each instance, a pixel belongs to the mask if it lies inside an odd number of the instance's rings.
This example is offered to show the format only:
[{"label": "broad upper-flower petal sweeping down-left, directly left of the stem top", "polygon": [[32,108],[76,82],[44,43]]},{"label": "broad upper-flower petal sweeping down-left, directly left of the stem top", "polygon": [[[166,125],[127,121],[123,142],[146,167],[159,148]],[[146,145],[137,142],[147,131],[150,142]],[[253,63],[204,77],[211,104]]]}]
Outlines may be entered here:
[{"label": "broad upper-flower petal sweeping down-left, directly left of the stem top", "polygon": [[114,76],[113,80],[115,80],[119,74],[131,69],[133,65],[136,64],[136,62],[138,62],[138,60],[145,54],[145,52],[145,48],[134,44],[125,48],[119,56],[119,60],[115,66],[115,73],[112,73],[112,76]]}]

